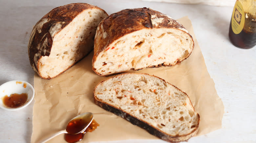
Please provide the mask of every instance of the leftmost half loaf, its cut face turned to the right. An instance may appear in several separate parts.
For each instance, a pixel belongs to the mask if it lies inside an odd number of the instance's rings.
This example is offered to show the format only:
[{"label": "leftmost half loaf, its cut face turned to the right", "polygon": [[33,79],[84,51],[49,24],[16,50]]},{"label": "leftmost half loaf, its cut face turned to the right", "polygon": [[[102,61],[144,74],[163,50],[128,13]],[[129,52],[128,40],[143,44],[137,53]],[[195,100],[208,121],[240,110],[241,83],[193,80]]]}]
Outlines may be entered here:
[{"label": "leftmost half loaf, its cut face turned to the right", "polygon": [[31,66],[45,79],[53,78],[93,50],[98,24],[108,14],[86,3],[54,8],[33,27],[28,54]]}]

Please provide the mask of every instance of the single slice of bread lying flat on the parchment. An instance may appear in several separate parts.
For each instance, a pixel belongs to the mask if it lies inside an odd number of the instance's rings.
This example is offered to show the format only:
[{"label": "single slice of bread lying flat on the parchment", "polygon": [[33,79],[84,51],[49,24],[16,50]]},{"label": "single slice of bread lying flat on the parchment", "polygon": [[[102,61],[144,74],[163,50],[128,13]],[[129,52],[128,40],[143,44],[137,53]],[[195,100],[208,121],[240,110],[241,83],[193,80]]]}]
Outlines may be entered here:
[{"label": "single slice of bread lying flat on the parchment", "polygon": [[145,73],[123,73],[94,89],[95,103],[169,142],[186,141],[200,117],[186,93]]}]

